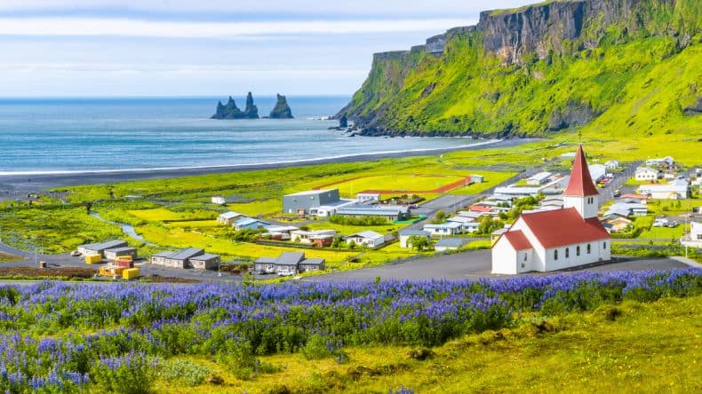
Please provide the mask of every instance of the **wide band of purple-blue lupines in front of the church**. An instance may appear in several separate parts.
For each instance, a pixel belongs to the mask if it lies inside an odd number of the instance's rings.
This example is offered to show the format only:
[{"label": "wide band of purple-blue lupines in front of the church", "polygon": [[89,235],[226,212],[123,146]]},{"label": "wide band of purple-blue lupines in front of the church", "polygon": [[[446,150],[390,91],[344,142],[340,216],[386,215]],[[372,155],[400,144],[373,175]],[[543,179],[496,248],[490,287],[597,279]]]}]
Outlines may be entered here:
[{"label": "wide band of purple-blue lupines in front of the church", "polygon": [[148,392],[157,370],[191,377],[186,386],[202,383],[207,371],[171,361],[182,355],[216,360],[245,380],[275,374],[277,366],[259,361],[263,355],[300,352],[341,363],[348,346],[431,347],[510,327],[525,313],[553,316],[699,294],[699,269],[341,285],[4,286],[0,389]]}]

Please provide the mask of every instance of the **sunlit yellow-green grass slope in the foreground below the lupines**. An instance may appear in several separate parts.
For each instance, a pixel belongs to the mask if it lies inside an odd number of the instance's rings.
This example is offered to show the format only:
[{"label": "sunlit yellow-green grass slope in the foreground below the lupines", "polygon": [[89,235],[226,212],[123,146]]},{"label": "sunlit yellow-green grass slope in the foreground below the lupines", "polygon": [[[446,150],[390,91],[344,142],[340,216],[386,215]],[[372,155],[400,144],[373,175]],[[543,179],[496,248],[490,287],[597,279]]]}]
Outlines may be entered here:
[{"label": "sunlit yellow-green grass slope in the foreground below the lupines", "polygon": [[[276,374],[241,381],[209,359],[224,379],[218,392],[386,393],[401,386],[417,393],[465,392],[699,392],[702,297],[626,302],[584,314],[551,318],[546,330],[530,315],[512,329],[467,335],[411,359],[417,348],[378,345],[347,349],[349,362],[305,359],[301,354],[261,357],[283,366]],[[614,311],[614,312],[612,312]],[[158,392],[184,392],[157,382]],[[187,389],[209,393],[211,385]]]}]

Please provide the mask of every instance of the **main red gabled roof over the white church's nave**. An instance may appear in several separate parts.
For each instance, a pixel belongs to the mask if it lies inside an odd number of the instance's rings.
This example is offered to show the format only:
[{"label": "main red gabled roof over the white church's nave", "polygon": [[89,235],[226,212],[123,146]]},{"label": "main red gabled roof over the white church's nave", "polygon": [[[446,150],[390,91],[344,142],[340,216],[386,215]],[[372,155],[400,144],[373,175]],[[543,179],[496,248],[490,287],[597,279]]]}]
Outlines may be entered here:
[{"label": "main red gabled roof over the white church's nave", "polygon": [[523,214],[522,219],[544,248],[610,239],[597,217],[583,220],[575,208]]}]

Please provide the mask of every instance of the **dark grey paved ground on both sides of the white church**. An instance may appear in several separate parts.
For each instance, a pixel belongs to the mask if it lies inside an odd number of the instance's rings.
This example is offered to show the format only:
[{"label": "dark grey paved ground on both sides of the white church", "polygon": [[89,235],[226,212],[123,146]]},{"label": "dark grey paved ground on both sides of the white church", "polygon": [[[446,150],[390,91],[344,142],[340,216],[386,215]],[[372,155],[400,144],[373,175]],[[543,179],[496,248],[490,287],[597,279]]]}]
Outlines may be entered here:
[{"label": "dark grey paved ground on both sides of the white church", "polygon": [[[688,267],[672,258],[629,258],[618,257],[618,261],[596,265],[581,270],[593,272],[669,270]],[[580,271],[580,270],[573,270]],[[545,273],[534,273],[544,275]],[[509,275],[491,274],[491,251],[478,250],[456,255],[417,259],[406,263],[384,265],[351,272],[330,273],[308,278],[315,282],[344,282],[347,280],[465,280],[477,278],[505,278]]]}]

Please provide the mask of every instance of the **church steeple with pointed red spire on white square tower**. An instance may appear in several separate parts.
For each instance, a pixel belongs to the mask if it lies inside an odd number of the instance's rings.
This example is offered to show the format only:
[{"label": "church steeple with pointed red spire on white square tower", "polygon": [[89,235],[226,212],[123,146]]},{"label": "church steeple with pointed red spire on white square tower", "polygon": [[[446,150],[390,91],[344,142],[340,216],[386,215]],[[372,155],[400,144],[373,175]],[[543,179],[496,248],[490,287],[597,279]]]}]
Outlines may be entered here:
[{"label": "church steeple with pointed red spire on white square tower", "polygon": [[570,181],[563,193],[563,208],[577,209],[584,219],[597,217],[599,195],[590,176],[590,169],[587,167],[583,146],[579,145],[573,170],[570,172]]}]

